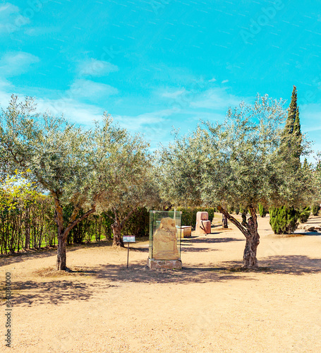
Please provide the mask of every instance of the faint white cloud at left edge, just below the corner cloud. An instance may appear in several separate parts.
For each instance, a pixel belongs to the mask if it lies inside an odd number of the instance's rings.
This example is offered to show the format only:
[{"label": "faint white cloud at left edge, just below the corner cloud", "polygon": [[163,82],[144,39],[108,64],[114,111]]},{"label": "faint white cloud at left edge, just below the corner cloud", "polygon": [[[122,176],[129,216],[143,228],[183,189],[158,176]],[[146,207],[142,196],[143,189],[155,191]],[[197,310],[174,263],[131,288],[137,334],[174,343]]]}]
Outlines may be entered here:
[{"label": "faint white cloud at left edge, just below the corner cloud", "polygon": [[32,64],[40,59],[30,53],[8,52],[0,60],[0,75],[3,77],[17,76],[28,71]]}]

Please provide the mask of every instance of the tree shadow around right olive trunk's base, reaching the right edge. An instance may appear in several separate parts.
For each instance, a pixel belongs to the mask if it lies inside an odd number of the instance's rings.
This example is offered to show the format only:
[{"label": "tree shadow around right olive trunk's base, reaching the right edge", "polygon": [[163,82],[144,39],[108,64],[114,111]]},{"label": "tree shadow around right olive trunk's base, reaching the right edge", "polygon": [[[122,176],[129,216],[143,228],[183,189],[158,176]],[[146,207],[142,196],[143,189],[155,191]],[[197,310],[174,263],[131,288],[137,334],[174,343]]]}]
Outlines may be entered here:
[{"label": "tree shadow around right olive trunk's base, reaching the right edge", "polygon": [[[225,261],[222,265],[231,271],[243,272],[241,261]],[[263,272],[269,275],[307,275],[321,273],[321,258],[310,258],[303,255],[269,256],[258,262],[259,268],[254,272]],[[251,270],[246,270],[251,272]]]}]

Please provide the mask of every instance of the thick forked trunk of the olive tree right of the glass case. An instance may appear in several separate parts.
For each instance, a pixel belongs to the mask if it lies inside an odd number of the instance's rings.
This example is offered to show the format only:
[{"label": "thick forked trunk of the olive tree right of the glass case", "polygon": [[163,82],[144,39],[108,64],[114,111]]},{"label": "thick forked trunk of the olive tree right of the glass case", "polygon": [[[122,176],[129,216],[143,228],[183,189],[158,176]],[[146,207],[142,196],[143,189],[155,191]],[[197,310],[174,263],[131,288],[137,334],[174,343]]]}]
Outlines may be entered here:
[{"label": "thick forked trunk of the olive tree right of the glass case", "polygon": [[258,234],[258,220],[255,213],[255,208],[250,205],[250,217],[246,221],[246,217],[242,224],[238,222],[233,216],[224,210],[221,206],[218,206],[219,212],[223,213],[246,237],[246,247],[243,253],[243,268],[255,269],[258,268],[258,258],[256,258],[256,251],[260,244],[260,235]]}]

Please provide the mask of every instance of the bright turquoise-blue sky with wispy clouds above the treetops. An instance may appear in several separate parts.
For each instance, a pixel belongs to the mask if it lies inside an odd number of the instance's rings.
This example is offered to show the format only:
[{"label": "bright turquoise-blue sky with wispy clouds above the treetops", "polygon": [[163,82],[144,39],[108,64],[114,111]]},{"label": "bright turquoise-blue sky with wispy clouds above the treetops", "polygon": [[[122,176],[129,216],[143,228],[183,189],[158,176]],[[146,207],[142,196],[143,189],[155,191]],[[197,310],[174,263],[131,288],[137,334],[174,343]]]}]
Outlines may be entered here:
[{"label": "bright turquoise-blue sky with wispy clouds above the treetops", "polygon": [[155,148],[296,85],[321,150],[320,1],[1,1],[0,48],[1,107],[30,95],[84,125],[107,110]]}]

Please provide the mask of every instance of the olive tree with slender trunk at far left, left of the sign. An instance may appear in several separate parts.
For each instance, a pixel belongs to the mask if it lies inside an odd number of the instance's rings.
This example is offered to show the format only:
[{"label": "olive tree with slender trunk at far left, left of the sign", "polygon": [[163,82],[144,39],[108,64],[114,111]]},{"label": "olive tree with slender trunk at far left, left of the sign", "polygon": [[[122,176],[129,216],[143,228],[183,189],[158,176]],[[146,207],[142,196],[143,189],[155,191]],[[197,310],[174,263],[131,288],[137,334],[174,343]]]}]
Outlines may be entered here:
[{"label": "olive tree with slender trunk at far left, left of the sign", "polygon": [[[95,213],[97,205],[106,203],[113,192],[140,196],[135,188],[141,176],[124,171],[139,169],[137,165],[144,162],[146,146],[140,138],[132,138],[125,129],[114,126],[108,114],[104,114],[101,124],[97,122],[95,128],[85,130],[63,117],[35,111],[31,98],[18,102],[16,96],[11,97],[8,109],[2,111],[0,166],[6,170],[29,170],[30,181],[54,198],[56,268],[66,270],[66,240],[71,229]],[[72,208],[68,220],[63,218],[65,205]],[[113,205],[117,208],[116,201]],[[85,212],[80,215],[82,209]]]}]

